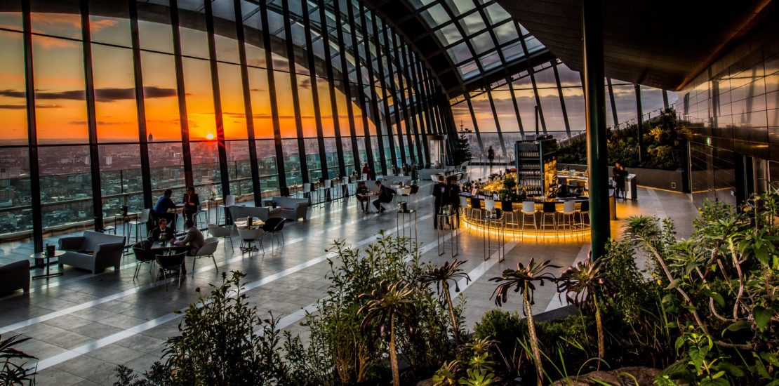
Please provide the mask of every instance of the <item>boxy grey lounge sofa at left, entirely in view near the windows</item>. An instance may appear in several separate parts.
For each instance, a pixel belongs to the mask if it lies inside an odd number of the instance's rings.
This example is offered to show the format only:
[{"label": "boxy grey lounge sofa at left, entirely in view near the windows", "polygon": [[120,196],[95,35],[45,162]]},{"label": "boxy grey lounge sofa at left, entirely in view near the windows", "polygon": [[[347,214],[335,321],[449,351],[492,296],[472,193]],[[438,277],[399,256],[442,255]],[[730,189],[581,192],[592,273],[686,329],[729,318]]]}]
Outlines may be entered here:
[{"label": "boxy grey lounge sofa at left, entirely in view near the windows", "polygon": [[65,250],[65,254],[58,257],[60,269],[68,264],[93,274],[108,267],[118,270],[125,250],[125,236],[86,231],[80,236],[59,239],[59,249]]}]

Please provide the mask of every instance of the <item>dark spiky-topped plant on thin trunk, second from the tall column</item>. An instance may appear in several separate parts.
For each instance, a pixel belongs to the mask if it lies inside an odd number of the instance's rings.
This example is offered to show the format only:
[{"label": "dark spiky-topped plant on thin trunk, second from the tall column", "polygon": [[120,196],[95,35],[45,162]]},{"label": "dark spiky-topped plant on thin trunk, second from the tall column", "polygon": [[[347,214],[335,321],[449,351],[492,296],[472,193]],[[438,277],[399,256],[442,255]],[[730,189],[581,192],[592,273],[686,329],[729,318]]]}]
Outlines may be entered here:
[{"label": "dark spiky-topped plant on thin trunk, second from the tall column", "polygon": [[[533,359],[536,364],[536,380],[539,386],[543,381],[544,373],[541,368],[541,352],[538,350],[538,336],[535,331],[533,321],[533,292],[535,291],[535,282],[538,285],[544,285],[544,282],[555,282],[557,279],[551,273],[544,272],[547,268],[559,268],[559,265],[551,264],[551,260],[546,260],[541,264],[536,264],[535,259],[531,258],[526,265],[516,264],[516,269],[507,269],[497,278],[489,279],[490,282],[499,283],[492,292],[495,296],[495,304],[502,306],[509,297],[509,289],[522,294],[524,313],[527,317],[527,334],[530,335],[530,349],[533,352]],[[490,299],[492,299],[492,296]]]}]

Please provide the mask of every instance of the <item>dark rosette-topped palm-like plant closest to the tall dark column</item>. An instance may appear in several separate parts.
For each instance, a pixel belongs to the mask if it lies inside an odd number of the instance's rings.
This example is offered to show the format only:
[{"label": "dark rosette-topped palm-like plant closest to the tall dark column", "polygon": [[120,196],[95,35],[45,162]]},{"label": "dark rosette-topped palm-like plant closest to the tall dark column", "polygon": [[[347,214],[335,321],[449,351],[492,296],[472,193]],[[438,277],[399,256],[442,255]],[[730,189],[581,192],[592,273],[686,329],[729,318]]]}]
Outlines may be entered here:
[{"label": "dark rosette-topped palm-like plant closest to the tall dark column", "polygon": [[[597,356],[605,356],[603,324],[601,322],[601,307],[597,299],[598,293],[605,291],[604,259],[592,260],[592,254],[587,260],[580,261],[569,267],[560,275],[557,290],[566,294],[568,303],[576,307],[588,307],[595,311],[597,327]],[[598,362],[600,366],[600,362]]]}]

